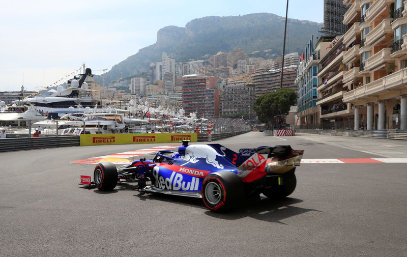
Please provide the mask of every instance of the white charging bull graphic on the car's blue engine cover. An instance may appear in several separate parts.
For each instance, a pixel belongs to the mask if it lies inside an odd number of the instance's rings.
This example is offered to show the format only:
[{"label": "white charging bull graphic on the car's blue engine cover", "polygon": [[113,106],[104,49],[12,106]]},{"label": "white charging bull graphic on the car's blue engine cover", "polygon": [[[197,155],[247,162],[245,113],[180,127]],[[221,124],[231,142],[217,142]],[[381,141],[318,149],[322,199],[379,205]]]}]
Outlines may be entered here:
[{"label": "white charging bull graphic on the car's blue engine cover", "polygon": [[185,149],[185,156],[183,159],[186,160],[187,162],[182,164],[181,166],[188,163],[197,163],[199,161],[199,158],[205,158],[208,164],[211,164],[217,168],[223,168],[223,165],[219,164],[219,162],[216,160],[216,156],[225,156],[225,155],[218,154],[218,152],[216,152],[216,150],[210,146],[191,145]]}]

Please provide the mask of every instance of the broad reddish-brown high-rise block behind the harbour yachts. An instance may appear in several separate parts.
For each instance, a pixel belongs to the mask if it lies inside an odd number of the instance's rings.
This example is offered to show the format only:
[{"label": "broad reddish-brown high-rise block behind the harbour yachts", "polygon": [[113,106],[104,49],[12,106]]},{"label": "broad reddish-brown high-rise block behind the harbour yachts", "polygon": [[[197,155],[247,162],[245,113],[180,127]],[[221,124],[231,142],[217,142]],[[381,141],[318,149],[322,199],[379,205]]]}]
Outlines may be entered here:
[{"label": "broad reddish-brown high-rise block behind the harbour yachts", "polygon": [[[199,75],[185,75],[182,78],[182,107],[185,113],[196,112],[206,115],[206,90],[216,89],[215,77],[201,77]],[[208,92],[211,94],[211,92]],[[215,94],[215,92],[213,92]],[[211,98],[212,99],[212,98]],[[215,96],[213,97],[216,100]],[[219,101],[219,98],[217,98]],[[219,106],[219,103],[218,105]]]}]

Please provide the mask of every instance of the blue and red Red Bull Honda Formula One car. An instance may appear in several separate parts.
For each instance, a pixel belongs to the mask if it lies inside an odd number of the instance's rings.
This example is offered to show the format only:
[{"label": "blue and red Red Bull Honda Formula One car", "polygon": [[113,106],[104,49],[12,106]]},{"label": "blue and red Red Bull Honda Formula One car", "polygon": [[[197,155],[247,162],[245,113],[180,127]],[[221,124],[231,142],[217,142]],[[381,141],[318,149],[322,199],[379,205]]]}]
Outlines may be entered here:
[{"label": "blue and red Red Bull Honda Formula One car", "polygon": [[243,148],[236,153],[219,144],[188,145],[185,140],[178,152],[160,150],[152,160],[141,158],[119,168],[100,162],[94,180],[81,176],[81,184],[111,190],[118,182],[136,182],[139,191],[201,197],[210,210],[222,211],[244,196],[291,194],[303,153],[290,146]]}]

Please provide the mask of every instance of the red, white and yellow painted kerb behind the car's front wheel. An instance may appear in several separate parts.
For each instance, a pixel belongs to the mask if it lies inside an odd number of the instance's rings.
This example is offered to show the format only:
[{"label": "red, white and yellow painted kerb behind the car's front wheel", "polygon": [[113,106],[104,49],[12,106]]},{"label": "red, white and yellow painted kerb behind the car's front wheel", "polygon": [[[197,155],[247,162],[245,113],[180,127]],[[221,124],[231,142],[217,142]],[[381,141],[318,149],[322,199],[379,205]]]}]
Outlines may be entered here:
[{"label": "red, white and yellow painted kerb behind the car's front wheel", "polygon": [[129,152],[109,154],[109,155],[103,155],[103,156],[99,156],[99,157],[92,157],[92,158],[88,158],[88,159],[77,160],[77,161],[73,161],[72,163],[95,164],[95,163],[98,163],[101,161],[107,161],[107,162],[111,162],[114,164],[128,164],[128,163],[131,163],[133,161],[133,159],[135,160],[135,158],[132,158],[132,160],[127,159],[129,157],[155,153],[158,150],[172,149],[172,148],[176,148],[179,146],[180,145],[151,147],[151,148],[134,150],[134,151],[129,151]]}]

